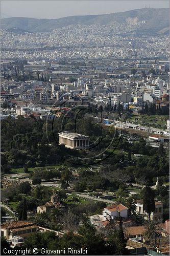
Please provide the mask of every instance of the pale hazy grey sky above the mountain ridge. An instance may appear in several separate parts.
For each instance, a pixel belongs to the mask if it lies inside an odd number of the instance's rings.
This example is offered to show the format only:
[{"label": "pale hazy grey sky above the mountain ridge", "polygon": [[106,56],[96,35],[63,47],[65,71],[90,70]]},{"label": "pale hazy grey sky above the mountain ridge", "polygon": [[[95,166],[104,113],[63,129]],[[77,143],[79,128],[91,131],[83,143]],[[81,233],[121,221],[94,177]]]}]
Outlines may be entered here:
[{"label": "pale hazy grey sky above the mountain ridge", "polygon": [[169,1],[164,0],[54,0],[36,1],[1,0],[1,12],[12,17],[60,18],[72,15],[106,14],[144,8],[169,8]]}]

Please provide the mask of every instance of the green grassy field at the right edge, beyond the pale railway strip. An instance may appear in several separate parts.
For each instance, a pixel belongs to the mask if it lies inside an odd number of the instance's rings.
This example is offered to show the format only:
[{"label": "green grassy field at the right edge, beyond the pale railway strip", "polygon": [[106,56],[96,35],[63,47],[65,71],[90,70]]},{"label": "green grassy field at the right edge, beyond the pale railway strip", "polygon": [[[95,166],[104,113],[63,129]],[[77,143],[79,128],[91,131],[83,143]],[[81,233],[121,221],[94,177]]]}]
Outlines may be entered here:
[{"label": "green grassy field at the right edge, beyond the pale railway strip", "polygon": [[141,124],[143,126],[151,126],[159,129],[166,129],[166,121],[169,119],[168,115],[139,115],[128,118],[128,121],[133,121],[134,124]]}]

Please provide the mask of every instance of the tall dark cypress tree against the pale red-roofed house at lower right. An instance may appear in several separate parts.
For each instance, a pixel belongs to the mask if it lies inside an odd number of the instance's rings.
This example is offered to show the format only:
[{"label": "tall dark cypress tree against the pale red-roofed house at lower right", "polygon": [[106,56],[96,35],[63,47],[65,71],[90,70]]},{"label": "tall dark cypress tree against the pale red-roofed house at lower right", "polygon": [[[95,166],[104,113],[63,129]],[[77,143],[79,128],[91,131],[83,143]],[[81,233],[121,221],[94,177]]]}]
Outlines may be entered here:
[{"label": "tall dark cypress tree against the pale red-roofed house at lower right", "polygon": [[143,210],[148,214],[148,220],[151,220],[151,213],[155,210],[155,192],[150,186],[145,186],[143,194]]}]

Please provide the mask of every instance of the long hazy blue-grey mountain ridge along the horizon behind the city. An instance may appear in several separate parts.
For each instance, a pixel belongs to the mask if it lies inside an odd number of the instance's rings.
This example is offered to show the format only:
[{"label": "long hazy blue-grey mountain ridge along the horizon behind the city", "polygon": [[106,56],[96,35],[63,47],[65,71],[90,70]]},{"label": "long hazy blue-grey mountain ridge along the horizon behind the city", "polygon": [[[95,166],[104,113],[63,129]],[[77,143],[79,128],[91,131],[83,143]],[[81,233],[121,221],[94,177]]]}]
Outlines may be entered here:
[{"label": "long hazy blue-grey mountain ridge along the horizon behind the city", "polygon": [[[138,28],[137,22],[144,20],[145,22]],[[119,13],[70,16],[58,19],[11,17],[1,19],[1,29],[48,32],[69,25],[111,25],[115,22],[126,25],[134,24],[136,34],[167,34],[169,31],[169,9],[143,8]]]}]

